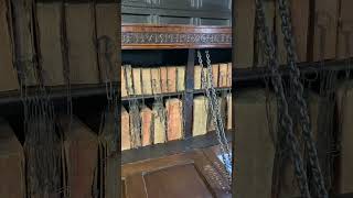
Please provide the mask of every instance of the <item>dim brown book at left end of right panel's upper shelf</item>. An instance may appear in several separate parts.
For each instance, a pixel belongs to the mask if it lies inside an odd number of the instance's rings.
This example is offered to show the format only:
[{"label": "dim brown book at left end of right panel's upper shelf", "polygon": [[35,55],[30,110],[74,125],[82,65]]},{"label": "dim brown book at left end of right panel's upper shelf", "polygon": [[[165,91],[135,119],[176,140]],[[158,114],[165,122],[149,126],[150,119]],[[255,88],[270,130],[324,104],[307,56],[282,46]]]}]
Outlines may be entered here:
[{"label": "dim brown book at left end of right panel's upper shelf", "polygon": [[255,1],[237,0],[233,3],[235,13],[234,64],[236,68],[253,67],[255,37]]}]

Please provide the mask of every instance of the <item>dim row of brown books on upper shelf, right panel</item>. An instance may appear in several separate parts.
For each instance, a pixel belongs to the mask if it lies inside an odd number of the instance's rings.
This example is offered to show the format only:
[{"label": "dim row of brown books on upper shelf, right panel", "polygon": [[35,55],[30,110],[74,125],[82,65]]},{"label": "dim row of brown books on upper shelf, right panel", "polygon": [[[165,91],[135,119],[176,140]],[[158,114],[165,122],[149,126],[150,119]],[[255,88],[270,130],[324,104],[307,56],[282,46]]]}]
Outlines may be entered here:
[{"label": "dim row of brown books on upper shelf, right panel", "polygon": [[[353,56],[352,0],[289,0],[291,26],[298,62],[347,58]],[[270,34],[275,38],[279,64],[287,62],[278,2],[264,1]],[[263,40],[256,28],[255,1],[236,1],[235,66],[265,64]]]}]

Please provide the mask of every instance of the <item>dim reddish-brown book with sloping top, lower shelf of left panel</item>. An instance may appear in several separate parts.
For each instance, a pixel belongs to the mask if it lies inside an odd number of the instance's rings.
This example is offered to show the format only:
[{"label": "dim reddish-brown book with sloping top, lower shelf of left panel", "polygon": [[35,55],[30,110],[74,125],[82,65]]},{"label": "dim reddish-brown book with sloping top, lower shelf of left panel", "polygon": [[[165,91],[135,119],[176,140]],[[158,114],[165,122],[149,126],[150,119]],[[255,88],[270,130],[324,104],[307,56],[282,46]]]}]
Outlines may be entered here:
[{"label": "dim reddish-brown book with sloping top, lower shelf of left panel", "polygon": [[[98,139],[88,127],[78,119],[61,117],[64,135],[64,160],[67,170],[65,188],[69,197],[93,197],[95,170],[98,165]],[[71,129],[68,124],[71,123]]]}]

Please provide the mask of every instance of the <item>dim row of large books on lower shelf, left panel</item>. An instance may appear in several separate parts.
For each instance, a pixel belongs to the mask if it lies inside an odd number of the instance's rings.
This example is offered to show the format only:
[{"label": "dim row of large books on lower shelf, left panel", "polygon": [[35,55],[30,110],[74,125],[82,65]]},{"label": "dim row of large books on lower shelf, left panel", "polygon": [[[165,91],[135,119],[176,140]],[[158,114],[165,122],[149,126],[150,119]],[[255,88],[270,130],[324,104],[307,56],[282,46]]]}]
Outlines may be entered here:
[{"label": "dim row of large books on lower shelf, left panel", "polygon": [[[45,164],[38,164],[43,161],[31,157],[31,152],[41,152],[43,147],[29,145],[26,141],[22,146],[10,124],[0,119],[0,197],[119,197],[119,194],[114,196],[119,187],[119,164],[107,154],[111,145],[106,143],[106,138],[77,118],[69,121],[68,117],[62,117],[58,124],[63,140],[54,143],[57,150],[47,157],[54,157],[57,164],[55,167],[45,167]],[[53,178],[39,182],[38,177],[45,173],[44,168],[57,172],[52,175]],[[45,186],[38,185],[42,183]]]}]

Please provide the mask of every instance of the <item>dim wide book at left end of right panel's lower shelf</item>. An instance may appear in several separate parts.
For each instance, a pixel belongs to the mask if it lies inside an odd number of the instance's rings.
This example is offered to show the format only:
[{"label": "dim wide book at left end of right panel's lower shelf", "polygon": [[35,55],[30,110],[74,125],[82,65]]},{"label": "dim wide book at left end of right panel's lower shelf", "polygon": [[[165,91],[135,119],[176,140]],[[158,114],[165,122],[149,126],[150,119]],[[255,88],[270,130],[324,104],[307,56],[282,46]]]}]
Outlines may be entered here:
[{"label": "dim wide book at left end of right panel's lower shelf", "polygon": [[[237,92],[234,122],[236,151],[236,186],[233,196],[270,198],[275,146],[271,134],[276,134],[277,109],[275,97],[269,97],[270,109],[266,111],[265,90]],[[269,117],[267,117],[269,116]],[[256,120],[256,124],[254,124]],[[261,162],[261,163],[257,163]],[[248,186],[256,190],[248,190]]]}]

